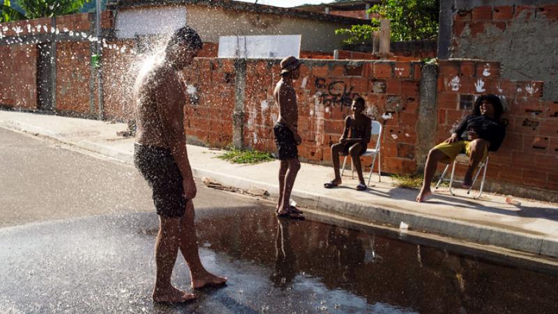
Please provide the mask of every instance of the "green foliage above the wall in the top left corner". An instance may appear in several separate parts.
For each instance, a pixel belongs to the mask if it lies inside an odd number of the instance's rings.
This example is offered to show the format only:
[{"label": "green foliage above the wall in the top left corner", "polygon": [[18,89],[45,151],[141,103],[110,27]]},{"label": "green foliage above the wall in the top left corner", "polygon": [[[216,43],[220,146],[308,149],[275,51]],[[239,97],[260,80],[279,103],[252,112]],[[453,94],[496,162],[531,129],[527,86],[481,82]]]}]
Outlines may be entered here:
[{"label": "green foliage above the wall in the top left corner", "polygon": [[17,6],[24,11],[20,13],[10,6],[10,0],[4,0],[0,21],[10,22],[77,13],[89,1],[91,0],[15,0]]}]

